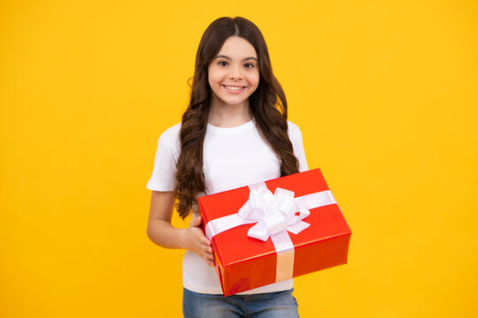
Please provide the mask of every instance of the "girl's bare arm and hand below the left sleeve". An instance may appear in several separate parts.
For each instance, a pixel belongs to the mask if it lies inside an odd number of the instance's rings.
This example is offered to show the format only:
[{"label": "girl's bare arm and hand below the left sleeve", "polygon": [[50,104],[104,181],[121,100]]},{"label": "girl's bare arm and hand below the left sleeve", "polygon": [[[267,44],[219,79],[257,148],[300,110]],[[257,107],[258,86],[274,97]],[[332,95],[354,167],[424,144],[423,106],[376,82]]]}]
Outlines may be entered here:
[{"label": "girl's bare arm and hand below the left sleeve", "polygon": [[189,249],[199,254],[208,265],[214,266],[211,242],[199,227],[201,216],[193,217],[186,229],[177,229],[171,224],[174,200],[173,192],[151,193],[148,238],[158,246]]}]

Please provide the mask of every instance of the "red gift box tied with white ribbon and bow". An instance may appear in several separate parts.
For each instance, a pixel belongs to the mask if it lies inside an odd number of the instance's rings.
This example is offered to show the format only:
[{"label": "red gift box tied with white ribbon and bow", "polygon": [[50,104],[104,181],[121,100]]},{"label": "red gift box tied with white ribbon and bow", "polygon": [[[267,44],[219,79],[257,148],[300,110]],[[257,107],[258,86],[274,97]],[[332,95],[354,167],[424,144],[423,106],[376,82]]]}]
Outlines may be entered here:
[{"label": "red gift box tied with white ribbon and bow", "polygon": [[319,169],[198,201],[224,296],[347,263],[351,229]]}]

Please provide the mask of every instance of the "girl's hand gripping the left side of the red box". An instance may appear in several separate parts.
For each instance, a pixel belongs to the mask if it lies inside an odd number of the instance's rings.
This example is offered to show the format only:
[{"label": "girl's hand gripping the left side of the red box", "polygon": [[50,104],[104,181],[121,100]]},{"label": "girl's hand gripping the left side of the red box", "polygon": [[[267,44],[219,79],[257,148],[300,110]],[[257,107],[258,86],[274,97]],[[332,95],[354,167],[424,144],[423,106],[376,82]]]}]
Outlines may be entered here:
[{"label": "girl's hand gripping the left side of the red box", "polygon": [[201,223],[203,223],[203,217],[193,215],[189,228],[186,229],[187,246],[189,250],[201,256],[207,265],[213,267],[214,254],[211,241],[204,236],[204,231],[200,227]]}]

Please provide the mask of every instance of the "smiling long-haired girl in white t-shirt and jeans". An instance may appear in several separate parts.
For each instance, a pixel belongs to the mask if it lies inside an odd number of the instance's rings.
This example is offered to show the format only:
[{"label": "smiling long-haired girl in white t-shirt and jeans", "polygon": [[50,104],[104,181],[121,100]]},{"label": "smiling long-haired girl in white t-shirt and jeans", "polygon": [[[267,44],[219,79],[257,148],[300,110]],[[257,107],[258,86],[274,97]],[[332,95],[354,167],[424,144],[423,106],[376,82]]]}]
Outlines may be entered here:
[{"label": "smiling long-haired girl in white t-shirt and jeans", "polygon": [[[287,102],[266,42],[250,20],[220,18],[197,49],[189,107],[161,134],[152,176],[148,237],[185,248],[185,317],[297,317],[293,280],[224,297],[205,238],[197,197],[308,170],[302,135],[287,121]],[[187,229],[171,224],[174,202]]]}]

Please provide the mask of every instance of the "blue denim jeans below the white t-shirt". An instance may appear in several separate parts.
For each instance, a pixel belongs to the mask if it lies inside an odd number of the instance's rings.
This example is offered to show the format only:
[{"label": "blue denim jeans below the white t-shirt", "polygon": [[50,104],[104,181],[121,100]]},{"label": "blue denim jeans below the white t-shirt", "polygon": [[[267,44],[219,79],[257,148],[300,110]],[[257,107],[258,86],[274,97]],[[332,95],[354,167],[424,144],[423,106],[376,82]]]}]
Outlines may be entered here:
[{"label": "blue denim jeans below the white t-shirt", "polygon": [[184,288],[182,314],[185,318],[298,318],[293,291],[224,297]]}]

